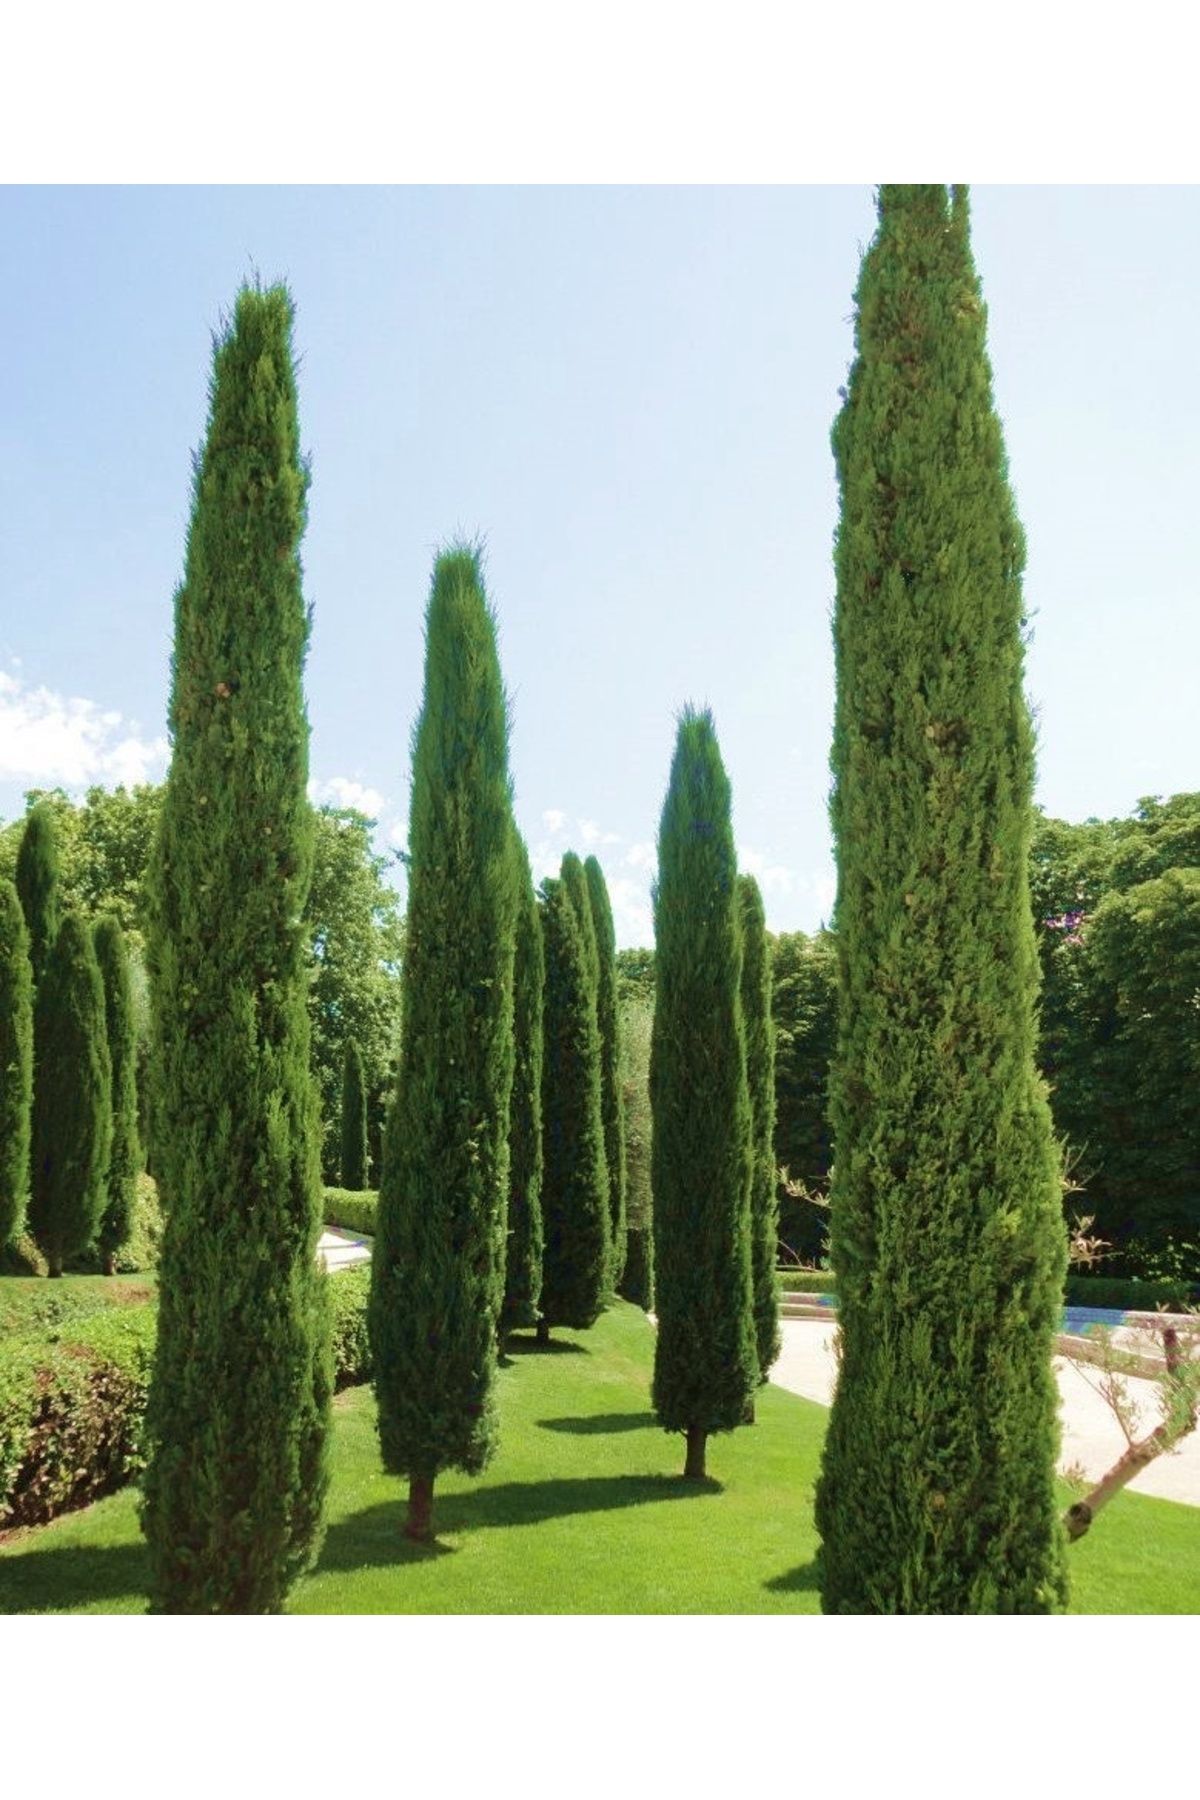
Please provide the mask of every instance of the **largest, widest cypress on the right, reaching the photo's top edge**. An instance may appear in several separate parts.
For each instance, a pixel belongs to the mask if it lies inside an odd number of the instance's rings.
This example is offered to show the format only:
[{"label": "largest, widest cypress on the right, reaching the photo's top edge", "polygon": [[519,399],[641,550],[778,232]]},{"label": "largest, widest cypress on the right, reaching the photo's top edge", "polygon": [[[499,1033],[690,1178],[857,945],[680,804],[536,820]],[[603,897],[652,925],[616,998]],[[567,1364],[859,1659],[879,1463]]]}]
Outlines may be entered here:
[{"label": "largest, widest cypress on the right, reaching the photo's top edge", "polygon": [[820,1593],[828,1613],[1045,1613],[1065,1600],[1065,1242],[1034,1071],[1024,540],[966,193],[878,207],[833,434],[842,1366]]}]

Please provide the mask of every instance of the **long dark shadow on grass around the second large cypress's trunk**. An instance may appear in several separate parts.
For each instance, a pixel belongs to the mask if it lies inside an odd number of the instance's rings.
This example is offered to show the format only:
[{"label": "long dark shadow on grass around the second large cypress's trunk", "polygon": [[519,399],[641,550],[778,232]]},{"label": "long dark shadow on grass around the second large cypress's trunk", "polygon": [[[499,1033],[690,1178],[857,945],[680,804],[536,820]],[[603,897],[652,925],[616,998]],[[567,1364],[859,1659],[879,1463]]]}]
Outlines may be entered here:
[{"label": "long dark shadow on grass around the second large cypress's trunk", "polygon": [[[619,1507],[644,1507],[660,1499],[698,1499],[720,1494],[721,1483],[684,1481],[676,1474],[579,1476],[561,1481],[502,1481],[477,1487],[468,1494],[434,1490],[434,1530],[437,1539],[504,1525],[543,1525],[578,1512],[612,1512]],[[405,1537],[407,1501],[365,1507],[329,1526],[326,1546],[313,1573],[327,1575],[362,1568],[392,1568],[426,1561],[430,1550],[448,1553],[453,1546],[414,1544]]]}]

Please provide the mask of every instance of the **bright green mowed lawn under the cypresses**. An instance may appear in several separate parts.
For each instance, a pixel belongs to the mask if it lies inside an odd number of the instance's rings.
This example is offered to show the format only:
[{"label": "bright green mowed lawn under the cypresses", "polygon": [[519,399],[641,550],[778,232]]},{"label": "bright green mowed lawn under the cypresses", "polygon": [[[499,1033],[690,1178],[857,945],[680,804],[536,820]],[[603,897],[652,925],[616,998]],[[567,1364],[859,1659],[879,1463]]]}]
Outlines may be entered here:
[{"label": "bright green mowed lawn under the cypresses", "polygon": [[[684,1483],[649,1409],[653,1328],[617,1305],[500,1370],[500,1451],[435,1490],[437,1543],[403,1537],[407,1485],[380,1469],[374,1402],[335,1402],[329,1528],[293,1613],[817,1613],[811,1503],[826,1411],[765,1388],[752,1427]],[[1067,1496],[1063,1494],[1063,1499]],[[1124,1494],[1070,1550],[1076,1613],[1200,1611],[1200,1508]],[[140,1613],[137,1494],[0,1546],[0,1611]]]}]

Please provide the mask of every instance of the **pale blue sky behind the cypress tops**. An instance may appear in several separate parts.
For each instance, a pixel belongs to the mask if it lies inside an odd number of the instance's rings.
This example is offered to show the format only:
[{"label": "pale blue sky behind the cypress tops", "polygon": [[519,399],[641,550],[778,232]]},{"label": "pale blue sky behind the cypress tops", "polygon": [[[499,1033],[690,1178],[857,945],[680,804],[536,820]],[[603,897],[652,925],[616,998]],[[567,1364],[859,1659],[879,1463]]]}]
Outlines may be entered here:
[{"label": "pale blue sky behind the cypress tops", "polygon": [[[534,868],[648,943],[675,713],[707,702],[774,929],[833,895],[829,423],[869,187],[9,187],[0,815],[166,767],[210,329],[297,302],[318,797],[403,842],[435,545],[488,540]],[[1029,540],[1038,799],[1200,785],[1196,187],[979,187]]]}]

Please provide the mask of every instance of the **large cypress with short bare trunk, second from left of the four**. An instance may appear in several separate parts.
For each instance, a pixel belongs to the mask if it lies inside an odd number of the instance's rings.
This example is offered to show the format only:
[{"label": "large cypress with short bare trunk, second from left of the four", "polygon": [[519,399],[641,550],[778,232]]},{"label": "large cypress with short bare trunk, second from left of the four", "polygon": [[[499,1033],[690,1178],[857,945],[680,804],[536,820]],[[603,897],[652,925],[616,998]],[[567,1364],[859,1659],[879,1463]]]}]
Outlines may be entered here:
[{"label": "large cypress with short bare trunk, second from left of the four", "polygon": [[383,1465],[434,1480],[497,1445],[513,1094],[516,871],[507,707],[480,558],[437,558],[408,826],[405,1030],[383,1150],[369,1328]]}]

